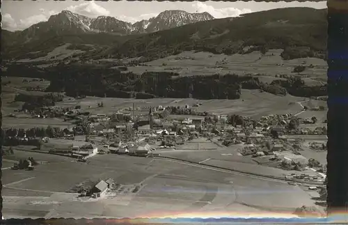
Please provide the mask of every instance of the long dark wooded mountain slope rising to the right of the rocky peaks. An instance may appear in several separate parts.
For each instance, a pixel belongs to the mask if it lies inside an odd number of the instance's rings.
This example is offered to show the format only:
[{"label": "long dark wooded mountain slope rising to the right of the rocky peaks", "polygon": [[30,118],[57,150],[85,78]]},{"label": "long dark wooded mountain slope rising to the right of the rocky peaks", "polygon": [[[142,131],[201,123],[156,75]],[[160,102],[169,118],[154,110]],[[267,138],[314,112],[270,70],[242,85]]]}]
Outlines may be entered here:
[{"label": "long dark wooded mountain slope rising to the right of the rocky peaks", "polygon": [[313,8],[281,8],[188,24],[128,40],[109,49],[116,56],[158,58],[182,50],[232,54],[246,46],[269,49],[310,47],[326,50],[326,11]]}]

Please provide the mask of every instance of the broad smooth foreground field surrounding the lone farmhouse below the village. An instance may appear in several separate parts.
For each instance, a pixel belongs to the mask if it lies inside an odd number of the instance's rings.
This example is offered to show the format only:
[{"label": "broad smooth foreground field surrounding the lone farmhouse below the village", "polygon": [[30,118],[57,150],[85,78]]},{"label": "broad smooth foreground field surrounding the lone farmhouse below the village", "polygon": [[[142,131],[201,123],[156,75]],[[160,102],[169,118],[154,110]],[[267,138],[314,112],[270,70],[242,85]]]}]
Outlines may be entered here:
[{"label": "broad smooth foreground field surrounding the lone farmhouse below the village", "polygon": [[[60,158],[38,155],[32,156],[40,160]],[[28,215],[30,207],[33,217],[141,217],[181,211],[231,211],[239,207],[244,212],[291,213],[303,204],[314,204],[301,188],[286,183],[165,160],[96,155],[88,164],[57,161],[39,165],[34,171],[4,170],[3,212],[10,217],[21,217]],[[144,187],[137,194],[87,202],[76,199],[74,194],[61,193],[85,179],[98,178],[113,178],[120,184],[143,183]],[[41,196],[38,193],[42,193]],[[289,194],[294,197],[289,199]]]}]

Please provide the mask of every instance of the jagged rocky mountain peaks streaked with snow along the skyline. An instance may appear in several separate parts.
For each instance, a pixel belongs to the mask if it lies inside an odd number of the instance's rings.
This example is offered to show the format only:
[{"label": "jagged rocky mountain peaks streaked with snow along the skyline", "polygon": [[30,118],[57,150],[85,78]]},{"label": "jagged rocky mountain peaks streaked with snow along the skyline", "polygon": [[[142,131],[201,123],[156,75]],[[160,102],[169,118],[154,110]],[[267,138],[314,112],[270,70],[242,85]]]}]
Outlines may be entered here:
[{"label": "jagged rocky mountain peaks streaked with snow along the skyline", "polygon": [[69,10],[52,15],[49,20],[33,24],[24,31],[17,31],[22,41],[40,38],[42,35],[64,35],[81,33],[113,33],[124,36],[137,33],[152,33],[171,29],[185,24],[213,20],[209,13],[187,13],[183,10],[166,10],[150,20],[141,20],[134,24],[118,20],[115,17],[99,16],[90,18]]}]

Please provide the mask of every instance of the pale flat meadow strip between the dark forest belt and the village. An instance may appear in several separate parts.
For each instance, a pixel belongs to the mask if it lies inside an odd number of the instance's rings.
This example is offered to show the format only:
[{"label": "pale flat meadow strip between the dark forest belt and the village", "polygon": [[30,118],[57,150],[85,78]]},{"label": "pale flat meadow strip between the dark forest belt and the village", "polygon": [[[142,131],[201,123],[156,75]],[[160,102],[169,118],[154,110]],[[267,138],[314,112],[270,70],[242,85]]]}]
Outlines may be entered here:
[{"label": "pale flat meadow strip between the dark forest belt and the village", "polygon": [[[61,107],[74,107],[76,105],[80,105],[81,109],[88,109],[91,114],[107,114],[116,112],[118,111],[118,109],[126,109],[132,107],[133,103],[136,107],[145,107],[150,105],[154,107],[158,105],[162,105],[164,107],[184,107],[186,104],[192,106],[197,102],[202,102],[203,104],[200,107],[196,108],[197,111],[209,111],[215,114],[241,114],[243,116],[260,117],[268,114],[296,114],[301,111],[301,106],[299,104],[290,104],[290,102],[300,102],[303,100],[303,98],[297,98],[291,95],[280,97],[277,95],[272,95],[271,93],[260,93],[259,91],[242,90],[242,100],[194,100],[171,98],[134,100],[122,98],[86,97],[84,99],[58,102],[57,105]],[[99,102],[103,102],[104,107],[97,107],[97,103]]]}]

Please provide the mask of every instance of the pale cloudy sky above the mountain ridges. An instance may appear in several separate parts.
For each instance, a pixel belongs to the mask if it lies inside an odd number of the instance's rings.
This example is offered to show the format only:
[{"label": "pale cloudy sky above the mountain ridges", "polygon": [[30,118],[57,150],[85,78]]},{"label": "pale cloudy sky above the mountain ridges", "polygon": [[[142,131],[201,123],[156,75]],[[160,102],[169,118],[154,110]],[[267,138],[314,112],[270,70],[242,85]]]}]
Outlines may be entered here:
[{"label": "pale cloudy sky above the mountain ridges", "polygon": [[1,27],[9,31],[23,30],[38,22],[47,21],[51,15],[70,10],[73,13],[97,17],[109,15],[118,20],[136,22],[155,17],[164,10],[185,10],[189,13],[210,13],[215,18],[236,17],[243,13],[285,7],[326,8],[326,1],[299,3],[255,1],[12,1],[1,2]]}]

